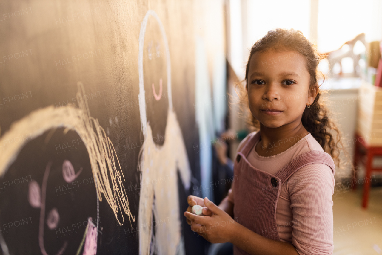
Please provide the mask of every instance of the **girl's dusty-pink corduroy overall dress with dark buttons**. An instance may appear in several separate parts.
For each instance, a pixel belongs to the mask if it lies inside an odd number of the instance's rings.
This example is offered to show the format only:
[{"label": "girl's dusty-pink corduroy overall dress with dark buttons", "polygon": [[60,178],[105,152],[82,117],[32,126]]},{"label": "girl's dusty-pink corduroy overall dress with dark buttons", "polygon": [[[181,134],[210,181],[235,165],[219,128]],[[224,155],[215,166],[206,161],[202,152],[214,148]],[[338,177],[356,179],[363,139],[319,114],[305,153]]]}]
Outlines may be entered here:
[{"label": "girl's dusty-pink corduroy overall dress with dark buttons", "polygon": [[[257,132],[248,138],[236,155],[233,186],[235,220],[244,227],[264,237],[280,240],[276,225],[276,206],[281,186],[299,168],[312,163],[323,163],[335,173],[333,159],[326,152],[311,150],[291,160],[275,175],[257,169],[248,162],[249,152],[260,139]],[[296,180],[298,181],[298,180]],[[234,246],[234,255],[249,254]]]}]

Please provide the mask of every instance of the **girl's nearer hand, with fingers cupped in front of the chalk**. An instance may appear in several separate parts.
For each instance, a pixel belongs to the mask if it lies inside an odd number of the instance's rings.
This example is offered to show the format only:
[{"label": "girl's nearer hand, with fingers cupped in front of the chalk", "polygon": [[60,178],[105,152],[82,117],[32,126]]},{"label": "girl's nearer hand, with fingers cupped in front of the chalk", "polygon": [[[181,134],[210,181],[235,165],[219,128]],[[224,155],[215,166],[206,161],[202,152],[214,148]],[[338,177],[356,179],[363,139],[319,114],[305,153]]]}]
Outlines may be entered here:
[{"label": "girl's nearer hand, with fingers cupped in front of the chalk", "polygon": [[233,229],[238,223],[208,198],[204,198],[204,204],[212,212],[211,216],[198,216],[188,211],[184,213],[187,222],[191,222],[191,230],[213,244],[230,242]]}]

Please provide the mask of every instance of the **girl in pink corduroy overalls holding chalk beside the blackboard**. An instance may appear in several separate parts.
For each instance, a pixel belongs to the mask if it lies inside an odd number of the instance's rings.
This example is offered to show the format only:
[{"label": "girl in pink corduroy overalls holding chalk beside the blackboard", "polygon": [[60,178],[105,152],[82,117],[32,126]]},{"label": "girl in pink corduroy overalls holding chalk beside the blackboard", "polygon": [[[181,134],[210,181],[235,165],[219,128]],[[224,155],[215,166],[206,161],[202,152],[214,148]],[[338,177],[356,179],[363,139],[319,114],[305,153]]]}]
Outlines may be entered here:
[{"label": "girl in pink corduroy overalls holding chalk beside the blackboard", "polygon": [[[320,100],[318,64],[315,47],[294,29],[269,31],[253,45],[245,93],[259,132],[239,145],[219,206],[188,197],[193,231],[231,242],[235,255],[333,253],[333,159],[343,146]],[[204,217],[190,213],[195,204]]]}]

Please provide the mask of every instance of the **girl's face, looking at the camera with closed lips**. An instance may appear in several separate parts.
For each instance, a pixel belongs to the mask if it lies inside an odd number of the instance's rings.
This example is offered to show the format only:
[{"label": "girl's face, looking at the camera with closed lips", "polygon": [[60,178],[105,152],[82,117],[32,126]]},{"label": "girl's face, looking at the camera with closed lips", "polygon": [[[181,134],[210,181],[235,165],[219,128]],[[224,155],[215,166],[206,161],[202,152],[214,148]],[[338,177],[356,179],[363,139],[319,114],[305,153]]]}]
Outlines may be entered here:
[{"label": "girl's face, looking at the camera with closed lips", "polygon": [[249,109],[265,127],[299,124],[305,107],[318,92],[308,93],[309,82],[305,59],[297,52],[256,52],[249,62]]}]

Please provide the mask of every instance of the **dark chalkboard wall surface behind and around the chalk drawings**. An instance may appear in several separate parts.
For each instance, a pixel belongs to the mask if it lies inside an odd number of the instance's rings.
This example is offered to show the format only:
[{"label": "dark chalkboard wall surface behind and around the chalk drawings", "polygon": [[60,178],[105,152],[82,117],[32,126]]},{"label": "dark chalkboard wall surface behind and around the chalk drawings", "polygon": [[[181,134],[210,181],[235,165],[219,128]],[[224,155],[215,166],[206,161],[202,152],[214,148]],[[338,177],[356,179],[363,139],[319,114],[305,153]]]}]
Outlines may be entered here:
[{"label": "dark chalkboard wall surface behind and around the chalk drawings", "polygon": [[[138,38],[141,22],[150,9],[158,14],[167,34],[173,108],[193,176],[200,181],[199,154],[193,146],[199,142],[194,108],[195,37],[205,39],[209,72],[212,72],[210,59],[217,52],[223,52],[223,33],[219,34],[220,40],[208,33],[216,33],[216,24],[219,24],[218,31],[223,31],[223,13],[212,10],[214,6],[221,10],[222,2],[1,2],[0,138],[11,129],[12,123],[34,110],[50,105],[78,107],[78,100],[86,101],[90,115],[98,119],[115,147],[125,177],[123,185],[130,210],[137,219],[140,182],[137,165],[143,140],[138,104]],[[157,72],[161,70],[147,70],[145,79],[157,80]],[[82,98],[76,98],[78,82],[84,86]],[[148,115],[148,120],[160,123],[165,114],[161,107],[165,109],[168,105],[154,107],[156,112]],[[49,119],[44,121],[49,122]],[[157,124],[156,128],[160,131],[163,126]],[[67,242],[63,254],[75,254],[88,217],[92,217],[94,224],[96,222],[97,195],[89,156],[78,134],[67,131],[65,128],[50,129],[33,139],[26,136],[6,141],[27,140],[15,155],[13,164],[0,177],[0,232],[2,244],[7,245],[10,254],[41,253],[41,214],[28,202],[28,189],[32,180],[42,185],[50,163],[45,218],[51,208],[57,208],[60,222],[52,230],[45,224],[46,252],[55,254]],[[0,144],[0,153],[6,148],[4,142]],[[83,168],[76,178],[77,186],[68,186],[63,179],[64,160],[72,163],[76,173]],[[179,186],[183,220],[186,196],[192,190],[185,191],[181,182]],[[136,226],[134,222],[131,226],[126,218],[120,226],[106,201],[99,203],[98,254],[138,254],[138,235],[129,233]],[[21,223],[15,226],[16,222]],[[187,251],[200,252],[204,242],[184,222],[182,226]],[[4,251],[2,246],[0,253]]]}]

